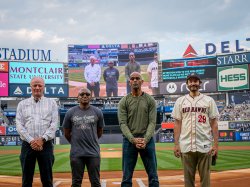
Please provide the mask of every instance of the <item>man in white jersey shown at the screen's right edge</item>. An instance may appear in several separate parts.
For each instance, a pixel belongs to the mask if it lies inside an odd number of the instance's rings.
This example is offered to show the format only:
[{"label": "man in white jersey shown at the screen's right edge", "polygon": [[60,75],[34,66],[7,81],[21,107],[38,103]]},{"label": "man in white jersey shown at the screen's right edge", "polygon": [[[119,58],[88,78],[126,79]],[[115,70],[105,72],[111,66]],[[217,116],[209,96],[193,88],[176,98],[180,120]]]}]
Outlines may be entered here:
[{"label": "man in white jersey shown at the screen's right edge", "polygon": [[154,61],[148,65],[148,76],[149,76],[149,88],[152,89],[152,94],[157,95],[159,94],[159,87],[158,87],[158,53],[155,52],[154,54]]}]

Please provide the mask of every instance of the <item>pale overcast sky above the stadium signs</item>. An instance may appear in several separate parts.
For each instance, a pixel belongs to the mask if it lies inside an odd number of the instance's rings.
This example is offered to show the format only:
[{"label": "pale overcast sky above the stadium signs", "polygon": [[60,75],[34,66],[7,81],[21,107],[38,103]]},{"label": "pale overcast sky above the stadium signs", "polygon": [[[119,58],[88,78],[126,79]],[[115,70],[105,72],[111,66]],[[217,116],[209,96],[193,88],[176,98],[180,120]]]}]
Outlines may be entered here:
[{"label": "pale overcast sky above the stadium signs", "polygon": [[[235,40],[250,49],[249,0],[0,0],[0,48],[50,49],[67,61],[68,44],[158,42],[161,59],[188,44]],[[220,53],[220,50],[217,50]]]}]

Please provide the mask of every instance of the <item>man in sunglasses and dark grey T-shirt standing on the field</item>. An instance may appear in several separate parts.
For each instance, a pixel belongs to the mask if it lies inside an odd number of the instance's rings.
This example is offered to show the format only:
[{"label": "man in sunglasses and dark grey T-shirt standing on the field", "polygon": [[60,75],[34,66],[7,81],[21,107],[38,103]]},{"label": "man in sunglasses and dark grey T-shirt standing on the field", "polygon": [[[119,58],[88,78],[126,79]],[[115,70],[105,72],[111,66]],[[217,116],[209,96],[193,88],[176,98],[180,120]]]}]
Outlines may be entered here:
[{"label": "man in sunglasses and dark grey T-shirt standing on the field", "polygon": [[71,144],[70,165],[72,187],[80,187],[85,165],[91,186],[100,187],[100,146],[104,127],[102,111],[90,105],[91,92],[82,88],[78,92],[79,105],[69,109],[63,121],[64,135]]}]

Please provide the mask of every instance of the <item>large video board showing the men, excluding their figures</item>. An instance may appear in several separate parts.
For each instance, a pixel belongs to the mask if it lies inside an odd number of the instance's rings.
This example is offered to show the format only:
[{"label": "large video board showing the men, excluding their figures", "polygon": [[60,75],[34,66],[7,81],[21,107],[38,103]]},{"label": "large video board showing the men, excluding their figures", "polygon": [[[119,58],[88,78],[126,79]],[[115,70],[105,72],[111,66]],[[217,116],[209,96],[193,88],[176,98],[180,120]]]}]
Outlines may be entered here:
[{"label": "large video board showing the men, excluding their figures", "polygon": [[140,64],[144,83],[143,91],[152,93],[148,88],[149,77],[148,65],[154,61],[154,53],[159,52],[156,42],[134,44],[97,44],[97,45],[68,45],[68,68],[69,68],[69,97],[76,97],[78,90],[87,87],[84,77],[85,67],[90,64],[90,57],[95,57],[95,64],[101,67],[99,96],[106,96],[106,82],[103,72],[108,68],[109,60],[114,62],[114,68],[119,71],[118,96],[124,96],[126,91],[125,65],[129,62],[129,54],[133,52],[135,61]]}]

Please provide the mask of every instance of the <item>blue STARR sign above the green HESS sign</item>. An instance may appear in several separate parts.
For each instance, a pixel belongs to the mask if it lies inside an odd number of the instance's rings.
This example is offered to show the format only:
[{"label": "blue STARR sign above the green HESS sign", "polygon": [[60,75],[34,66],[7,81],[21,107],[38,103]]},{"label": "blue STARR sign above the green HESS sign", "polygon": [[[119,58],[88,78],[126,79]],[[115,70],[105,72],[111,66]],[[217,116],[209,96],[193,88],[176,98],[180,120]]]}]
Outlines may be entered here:
[{"label": "blue STARR sign above the green HESS sign", "polygon": [[232,55],[217,56],[217,66],[249,64],[250,53],[238,53]]}]

